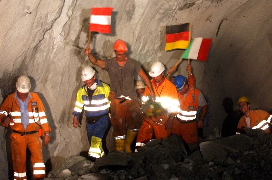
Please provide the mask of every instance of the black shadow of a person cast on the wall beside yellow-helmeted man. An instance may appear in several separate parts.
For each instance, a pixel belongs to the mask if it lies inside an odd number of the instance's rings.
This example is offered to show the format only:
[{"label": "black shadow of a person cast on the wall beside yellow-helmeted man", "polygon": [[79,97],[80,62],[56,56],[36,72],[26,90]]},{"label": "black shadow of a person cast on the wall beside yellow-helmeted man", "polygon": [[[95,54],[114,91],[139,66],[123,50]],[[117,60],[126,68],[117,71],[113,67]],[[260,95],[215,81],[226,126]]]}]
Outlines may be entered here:
[{"label": "black shadow of a person cast on the wall beside yellow-helmeted man", "polygon": [[233,101],[232,98],[226,97],[222,102],[222,106],[224,107],[225,112],[228,116],[224,119],[222,128],[221,128],[221,136],[227,137],[236,134],[237,125],[240,118],[243,116],[243,113],[238,110],[233,110]]}]

